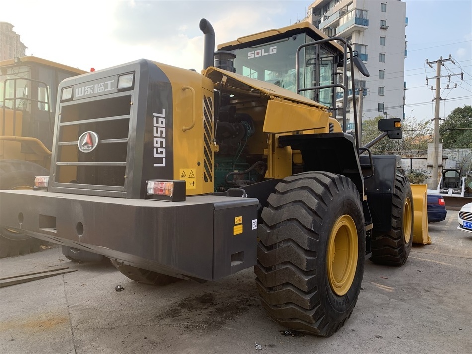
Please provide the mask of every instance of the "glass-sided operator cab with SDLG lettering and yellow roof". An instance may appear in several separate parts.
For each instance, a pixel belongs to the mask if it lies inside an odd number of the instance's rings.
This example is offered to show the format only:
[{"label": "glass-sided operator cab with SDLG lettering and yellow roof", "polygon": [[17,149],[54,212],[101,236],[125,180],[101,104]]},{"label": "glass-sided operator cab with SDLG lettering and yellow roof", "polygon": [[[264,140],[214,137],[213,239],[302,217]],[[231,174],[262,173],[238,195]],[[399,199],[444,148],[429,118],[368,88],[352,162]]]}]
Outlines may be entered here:
[{"label": "glass-sided operator cab with SDLG lettering and yellow roof", "polygon": [[[342,92],[336,87],[326,86],[343,79],[345,73],[337,73],[342,65],[343,48],[335,42],[327,42],[299,50],[300,46],[326,38],[310,23],[301,22],[241,37],[219,45],[218,49],[236,55],[234,67],[237,74],[270,82],[295,93],[299,89],[299,94],[328,107],[333,116],[340,116],[336,110],[341,107],[336,107],[336,101],[342,97]],[[313,87],[316,89],[304,91]]]}]

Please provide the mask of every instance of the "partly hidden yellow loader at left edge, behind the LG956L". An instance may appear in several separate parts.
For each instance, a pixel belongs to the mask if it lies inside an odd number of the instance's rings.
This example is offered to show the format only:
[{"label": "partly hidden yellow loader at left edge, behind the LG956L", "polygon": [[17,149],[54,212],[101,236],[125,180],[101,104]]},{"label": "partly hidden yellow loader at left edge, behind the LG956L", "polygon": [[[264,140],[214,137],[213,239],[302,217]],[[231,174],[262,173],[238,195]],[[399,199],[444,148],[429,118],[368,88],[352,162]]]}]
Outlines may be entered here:
[{"label": "partly hidden yellow loader at left edge, behind the LG956L", "polygon": [[[0,189],[31,189],[49,174],[57,88],[85,73],[37,57],[0,61]],[[41,240],[0,226],[0,257],[38,251]]]}]

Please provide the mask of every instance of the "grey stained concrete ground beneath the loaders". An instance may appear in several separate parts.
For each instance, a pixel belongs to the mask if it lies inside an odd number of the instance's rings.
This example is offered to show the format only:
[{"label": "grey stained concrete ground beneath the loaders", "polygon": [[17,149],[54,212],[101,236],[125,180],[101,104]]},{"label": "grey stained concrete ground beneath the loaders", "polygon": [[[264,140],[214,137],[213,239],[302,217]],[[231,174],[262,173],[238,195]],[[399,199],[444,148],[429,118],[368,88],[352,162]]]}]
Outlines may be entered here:
[{"label": "grey stained concrete ground beneath the loaders", "polygon": [[78,271],[0,289],[0,353],[472,353],[472,234],[456,225],[457,211],[429,224],[433,244],[413,246],[401,268],[368,261],[357,306],[330,338],[283,336],[252,269],[156,288],[60,247],[2,259],[1,277]]}]

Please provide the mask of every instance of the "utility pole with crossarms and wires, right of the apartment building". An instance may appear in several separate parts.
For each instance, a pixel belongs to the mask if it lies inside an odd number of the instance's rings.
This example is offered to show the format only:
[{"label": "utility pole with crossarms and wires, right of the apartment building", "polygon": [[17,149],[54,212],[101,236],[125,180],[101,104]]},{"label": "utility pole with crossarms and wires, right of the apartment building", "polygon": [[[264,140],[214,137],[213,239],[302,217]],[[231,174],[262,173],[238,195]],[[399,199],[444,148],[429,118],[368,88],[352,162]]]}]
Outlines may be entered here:
[{"label": "utility pole with crossarms and wires, right of the apartment building", "polygon": [[[436,89],[435,89],[435,98],[433,101],[435,101],[435,107],[434,107],[434,118],[432,119],[434,121],[434,140],[433,140],[433,180],[432,180],[432,189],[436,189],[438,187],[438,166],[439,166],[439,104],[441,101],[441,66],[444,66],[444,62],[451,61],[453,64],[454,60],[451,58],[451,55],[449,55],[449,58],[443,59],[443,57],[439,57],[438,60],[434,62],[430,62],[428,59],[426,59],[426,64],[429,65],[429,67],[432,69],[433,66],[432,64],[436,63],[436,76],[432,78],[426,78],[426,85],[428,83],[429,79],[436,79]],[[460,75],[460,74],[453,74],[453,75]],[[449,77],[449,80],[451,80],[452,75],[445,75],[443,77]],[[456,85],[457,86],[457,85]],[[456,87],[455,86],[455,87]],[[449,87],[449,84],[447,85],[446,88],[444,89],[453,89]],[[433,87],[431,86],[431,90],[433,90]],[[442,162],[442,156],[441,156],[441,162]]]}]

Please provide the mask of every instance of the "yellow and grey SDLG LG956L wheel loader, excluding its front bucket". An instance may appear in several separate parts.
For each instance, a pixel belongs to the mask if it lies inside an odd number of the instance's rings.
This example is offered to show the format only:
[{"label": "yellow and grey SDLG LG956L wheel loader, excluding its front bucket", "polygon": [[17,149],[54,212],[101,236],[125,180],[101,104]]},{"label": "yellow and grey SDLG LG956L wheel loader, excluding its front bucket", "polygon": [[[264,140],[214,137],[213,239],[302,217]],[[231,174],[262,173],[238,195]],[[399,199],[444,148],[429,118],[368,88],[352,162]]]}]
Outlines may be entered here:
[{"label": "yellow and grey SDLG LG956L wheel loader, excluding its front bucket", "polygon": [[201,74],[140,59],[64,80],[50,173],[0,192],[2,222],[148,284],[254,267],[274,320],[331,336],[365,259],[399,266],[411,249],[399,157],[369,150],[401,138],[401,120],[362,147],[346,132],[353,67],[368,73],[343,38],[302,22],[215,53],[200,29]]}]

